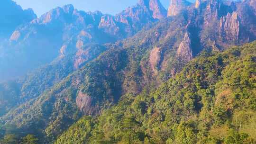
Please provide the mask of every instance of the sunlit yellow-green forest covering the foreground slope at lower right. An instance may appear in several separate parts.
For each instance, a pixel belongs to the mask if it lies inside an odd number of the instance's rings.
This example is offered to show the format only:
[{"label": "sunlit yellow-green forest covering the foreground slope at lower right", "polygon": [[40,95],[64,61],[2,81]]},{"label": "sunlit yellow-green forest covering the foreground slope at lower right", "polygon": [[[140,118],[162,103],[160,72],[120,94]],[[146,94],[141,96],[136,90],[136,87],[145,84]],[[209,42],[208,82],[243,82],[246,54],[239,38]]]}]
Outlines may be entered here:
[{"label": "sunlit yellow-green forest covering the foreground slope at lower right", "polygon": [[[256,42],[205,50],[159,88],[80,118],[55,144],[255,144],[255,74]],[[3,144],[37,144],[3,129]]]}]

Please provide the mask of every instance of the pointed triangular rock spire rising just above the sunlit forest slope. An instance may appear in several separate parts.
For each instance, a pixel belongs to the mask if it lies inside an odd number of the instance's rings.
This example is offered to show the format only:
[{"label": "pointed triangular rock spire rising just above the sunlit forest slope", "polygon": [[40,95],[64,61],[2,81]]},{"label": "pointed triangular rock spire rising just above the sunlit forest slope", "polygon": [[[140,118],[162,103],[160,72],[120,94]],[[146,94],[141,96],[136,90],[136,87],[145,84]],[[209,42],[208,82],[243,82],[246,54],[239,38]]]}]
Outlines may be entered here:
[{"label": "pointed triangular rock spire rising just above the sunlit forest slope", "polygon": [[185,61],[191,61],[192,56],[192,49],[191,49],[191,40],[189,33],[185,33],[183,41],[179,45],[177,54],[179,57],[181,57]]}]

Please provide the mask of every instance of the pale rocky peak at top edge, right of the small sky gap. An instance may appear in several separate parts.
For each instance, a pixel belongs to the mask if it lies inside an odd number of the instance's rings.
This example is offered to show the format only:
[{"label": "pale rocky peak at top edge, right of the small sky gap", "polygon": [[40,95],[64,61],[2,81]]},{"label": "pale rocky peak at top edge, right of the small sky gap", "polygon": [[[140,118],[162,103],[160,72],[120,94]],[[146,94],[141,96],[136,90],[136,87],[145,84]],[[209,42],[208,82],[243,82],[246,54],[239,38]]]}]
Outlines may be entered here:
[{"label": "pale rocky peak at top edge, right of the small sky gap", "polygon": [[167,16],[176,16],[186,9],[191,3],[186,0],[171,0]]}]

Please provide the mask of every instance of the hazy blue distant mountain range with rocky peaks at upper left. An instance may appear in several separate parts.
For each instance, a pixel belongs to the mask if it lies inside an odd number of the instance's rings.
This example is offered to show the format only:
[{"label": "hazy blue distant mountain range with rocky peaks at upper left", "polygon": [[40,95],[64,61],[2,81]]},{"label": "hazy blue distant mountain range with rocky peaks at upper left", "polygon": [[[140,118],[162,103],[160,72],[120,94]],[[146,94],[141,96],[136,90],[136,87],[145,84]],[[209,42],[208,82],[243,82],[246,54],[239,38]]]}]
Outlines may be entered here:
[{"label": "hazy blue distant mountain range with rocky peaks at upper left", "polygon": [[1,79],[22,76],[50,63],[60,53],[62,56],[77,53],[74,68],[78,68],[84,61],[82,49],[86,44],[105,44],[132,36],[165,16],[166,10],[159,0],[141,0],[116,16],[80,11],[73,5],[52,9],[12,33],[0,57]]}]

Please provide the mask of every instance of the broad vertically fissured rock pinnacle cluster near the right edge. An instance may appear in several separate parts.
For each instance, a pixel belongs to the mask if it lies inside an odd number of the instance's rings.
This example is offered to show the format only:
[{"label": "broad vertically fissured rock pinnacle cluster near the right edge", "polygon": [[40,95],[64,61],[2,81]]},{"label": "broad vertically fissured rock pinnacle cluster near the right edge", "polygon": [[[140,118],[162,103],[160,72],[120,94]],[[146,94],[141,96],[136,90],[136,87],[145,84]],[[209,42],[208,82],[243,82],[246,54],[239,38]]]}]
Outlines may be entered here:
[{"label": "broad vertically fissured rock pinnacle cluster near the right edge", "polygon": [[239,20],[238,13],[233,12],[232,15],[228,13],[227,16],[220,18],[220,31],[223,37],[226,37],[228,41],[237,42],[239,36]]}]

